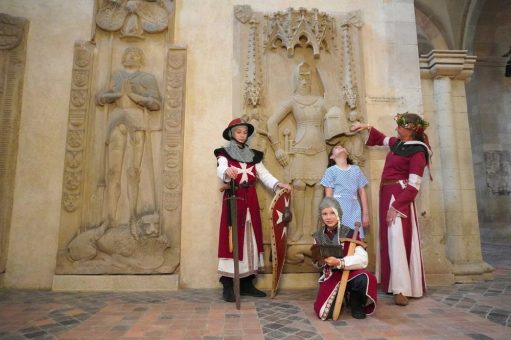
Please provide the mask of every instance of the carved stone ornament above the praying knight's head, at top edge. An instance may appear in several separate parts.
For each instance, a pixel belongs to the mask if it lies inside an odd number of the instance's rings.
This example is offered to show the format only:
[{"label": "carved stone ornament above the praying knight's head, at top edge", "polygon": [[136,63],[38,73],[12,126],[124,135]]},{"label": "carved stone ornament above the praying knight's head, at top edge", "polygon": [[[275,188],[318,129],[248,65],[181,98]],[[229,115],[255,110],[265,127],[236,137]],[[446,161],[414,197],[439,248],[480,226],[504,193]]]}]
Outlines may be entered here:
[{"label": "carved stone ornament above the praying knight's head, at top edge", "polygon": [[173,0],[104,0],[96,24],[121,38],[144,39],[144,32],[163,32],[169,25]]}]

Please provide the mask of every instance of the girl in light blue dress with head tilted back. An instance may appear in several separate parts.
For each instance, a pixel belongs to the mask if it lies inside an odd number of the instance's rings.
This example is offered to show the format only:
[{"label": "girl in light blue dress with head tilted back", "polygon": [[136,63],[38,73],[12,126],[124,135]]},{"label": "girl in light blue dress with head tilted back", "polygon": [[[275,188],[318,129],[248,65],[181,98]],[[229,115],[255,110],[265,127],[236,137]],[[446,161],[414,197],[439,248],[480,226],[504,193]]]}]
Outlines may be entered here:
[{"label": "girl in light blue dress with head tilted back", "polygon": [[334,197],[341,205],[343,225],[355,229],[355,222],[362,224],[360,238],[363,239],[364,229],[369,227],[369,205],[365,190],[368,181],[360,167],[351,163],[348,151],[340,144],[334,146],[321,185],[325,187],[325,196]]}]

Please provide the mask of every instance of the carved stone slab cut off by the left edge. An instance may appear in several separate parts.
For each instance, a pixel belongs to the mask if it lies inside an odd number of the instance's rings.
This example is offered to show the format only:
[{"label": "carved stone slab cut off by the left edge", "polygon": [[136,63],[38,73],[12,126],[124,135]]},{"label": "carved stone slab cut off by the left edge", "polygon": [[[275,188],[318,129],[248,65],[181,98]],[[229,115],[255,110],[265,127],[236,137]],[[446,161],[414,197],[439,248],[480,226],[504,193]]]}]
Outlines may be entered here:
[{"label": "carved stone slab cut off by the left edge", "polygon": [[7,263],[28,26],[0,13],[0,273]]}]

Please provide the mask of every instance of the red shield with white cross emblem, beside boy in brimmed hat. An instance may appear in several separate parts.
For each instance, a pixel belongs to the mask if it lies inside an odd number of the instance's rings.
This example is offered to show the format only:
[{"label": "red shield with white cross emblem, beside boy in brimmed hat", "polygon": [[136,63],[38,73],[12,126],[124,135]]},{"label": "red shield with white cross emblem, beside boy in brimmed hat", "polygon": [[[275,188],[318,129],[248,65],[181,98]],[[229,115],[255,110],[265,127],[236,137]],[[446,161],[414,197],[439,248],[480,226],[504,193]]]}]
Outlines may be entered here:
[{"label": "red shield with white cross emblem, beside boy in brimmed hat", "polygon": [[291,221],[291,193],[280,189],[270,205],[271,254],[272,254],[272,285],[271,297],[277,294],[280,275],[284,268],[287,249],[287,226]]}]

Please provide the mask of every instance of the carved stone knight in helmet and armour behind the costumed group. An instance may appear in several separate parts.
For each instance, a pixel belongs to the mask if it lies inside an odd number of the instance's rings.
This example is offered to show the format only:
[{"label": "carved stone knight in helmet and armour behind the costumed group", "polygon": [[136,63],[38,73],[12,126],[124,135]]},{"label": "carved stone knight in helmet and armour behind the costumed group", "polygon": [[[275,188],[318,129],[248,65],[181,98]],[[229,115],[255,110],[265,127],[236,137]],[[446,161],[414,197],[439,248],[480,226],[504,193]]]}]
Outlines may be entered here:
[{"label": "carved stone knight in helmet and armour behind the costumed group", "polygon": [[[312,95],[312,70],[306,62],[296,67],[294,94],[268,118],[267,122],[268,138],[275,151],[275,157],[288,171],[294,189],[295,228],[290,230],[291,242],[299,241],[304,235],[311,235],[316,229],[317,207],[323,198],[323,187],[319,182],[328,160],[323,121],[329,111],[340,111],[337,107],[327,111],[324,97]],[[295,140],[290,141],[286,137],[285,145],[282,145],[279,124],[288,115],[293,115],[296,121]],[[312,199],[307,198],[311,195],[306,195],[306,191],[312,191]],[[306,210],[309,210],[308,215],[305,214]],[[311,216],[311,220],[304,221],[305,216]]]}]

